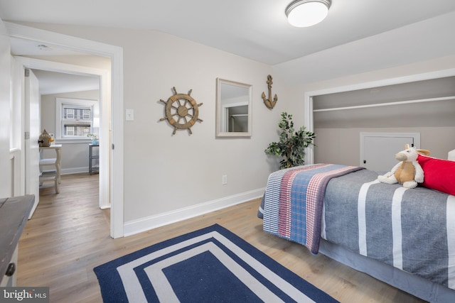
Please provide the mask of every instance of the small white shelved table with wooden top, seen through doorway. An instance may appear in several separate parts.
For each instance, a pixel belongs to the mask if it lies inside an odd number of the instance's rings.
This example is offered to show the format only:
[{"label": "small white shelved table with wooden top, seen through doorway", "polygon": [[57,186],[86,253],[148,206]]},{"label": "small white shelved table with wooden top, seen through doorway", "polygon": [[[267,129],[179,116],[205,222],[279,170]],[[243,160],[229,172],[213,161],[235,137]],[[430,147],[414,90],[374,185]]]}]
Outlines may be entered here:
[{"label": "small white shelved table with wooden top, seen through doorway", "polygon": [[[55,158],[42,158],[43,150],[55,150]],[[50,145],[48,148],[40,148],[40,184],[52,181],[55,183],[55,193],[60,192],[60,159],[61,144]],[[50,170],[49,170],[50,169]]]}]

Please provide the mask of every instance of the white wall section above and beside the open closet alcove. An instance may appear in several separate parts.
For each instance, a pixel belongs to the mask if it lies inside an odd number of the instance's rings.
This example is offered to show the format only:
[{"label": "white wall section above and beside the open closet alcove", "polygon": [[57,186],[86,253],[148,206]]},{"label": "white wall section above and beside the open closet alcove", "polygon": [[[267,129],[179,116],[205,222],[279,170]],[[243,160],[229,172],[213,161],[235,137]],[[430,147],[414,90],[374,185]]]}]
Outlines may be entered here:
[{"label": "white wall section above and beside the open closet alcove", "polygon": [[455,12],[446,13],[274,65],[273,75],[287,85],[287,106],[304,123],[305,92],[453,68],[454,27]]}]

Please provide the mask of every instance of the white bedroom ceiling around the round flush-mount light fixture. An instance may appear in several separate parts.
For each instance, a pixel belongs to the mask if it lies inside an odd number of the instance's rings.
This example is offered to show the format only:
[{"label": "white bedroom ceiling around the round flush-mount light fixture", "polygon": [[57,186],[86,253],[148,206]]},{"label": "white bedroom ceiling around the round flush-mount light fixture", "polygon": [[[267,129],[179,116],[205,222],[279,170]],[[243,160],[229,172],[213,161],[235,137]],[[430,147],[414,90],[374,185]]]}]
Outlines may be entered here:
[{"label": "white bedroom ceiling around the round flush-mount light fixture", "polygon": [[[0,18],[12,22],[150,29],[277,65],[455,11],[454,0],[332,0],[323,22],[294,28],[284,14],[290,2],[0,0]],[[13,39],[11,43],[15,55],[76,55],[53,45],[43,50],[33,41]]]}]

